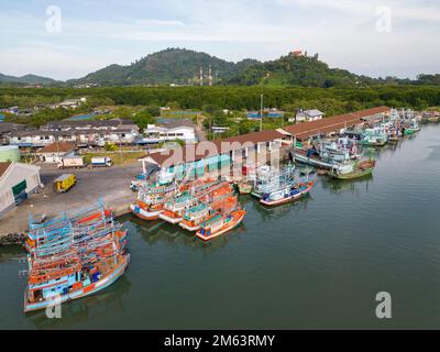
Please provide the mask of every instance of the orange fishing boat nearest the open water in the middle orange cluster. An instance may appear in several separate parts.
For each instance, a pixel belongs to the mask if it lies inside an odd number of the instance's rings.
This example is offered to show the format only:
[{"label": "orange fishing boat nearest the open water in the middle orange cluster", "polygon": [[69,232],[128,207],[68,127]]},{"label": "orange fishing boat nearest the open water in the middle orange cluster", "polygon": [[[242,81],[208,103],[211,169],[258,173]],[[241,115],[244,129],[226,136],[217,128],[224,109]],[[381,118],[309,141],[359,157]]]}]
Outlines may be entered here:
[{"label": "orange fishing boat nearest the open water in the middle orange cluster", "polygon": [[213,240],[237,228],[245,216],[246,211],[240,206],[229,215],[216,215],[206,220],[200,230],[196,232],[196,237],[204,241]]}]

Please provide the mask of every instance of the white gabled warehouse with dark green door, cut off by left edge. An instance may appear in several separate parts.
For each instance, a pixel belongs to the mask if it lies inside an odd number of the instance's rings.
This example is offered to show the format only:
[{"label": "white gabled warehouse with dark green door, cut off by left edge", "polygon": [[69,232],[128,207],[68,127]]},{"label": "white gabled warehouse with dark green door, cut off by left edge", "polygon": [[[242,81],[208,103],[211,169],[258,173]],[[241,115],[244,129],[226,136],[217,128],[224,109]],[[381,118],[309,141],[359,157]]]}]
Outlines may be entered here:
[{"label": "white gabled warehouse with dark green door, cut off by left edge", "polygon": [[38,166],[0,163],[0,217],[28,199],[41,186]]}]

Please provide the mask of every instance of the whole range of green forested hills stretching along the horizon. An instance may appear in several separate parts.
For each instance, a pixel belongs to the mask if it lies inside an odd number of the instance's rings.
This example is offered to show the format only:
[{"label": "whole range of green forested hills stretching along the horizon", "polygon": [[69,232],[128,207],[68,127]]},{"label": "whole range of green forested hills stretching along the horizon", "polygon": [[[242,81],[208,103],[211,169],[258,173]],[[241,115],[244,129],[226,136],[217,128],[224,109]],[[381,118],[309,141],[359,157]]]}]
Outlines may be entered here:
[{"label": "whole range of green forested hills stretching along the horizon", "polygon": [[[274,61],[245,58],[228,62],[204,52],[170,47],[152,53],[129,65],[112,64],[85,77],[59,81],[36,75],[22,77],[0,74],[0,82],[75,87],[100,86],[199,86],[204,85],[356,87],[373,85],[440,85],[440,75],[419,75],[416,80],[395,77],[372,78],[346,69],[331,68],[318,54],[290,53]],[[209,70],[210,68],[210,70]],[[211,75],[209,75],[211,74]]]}]

